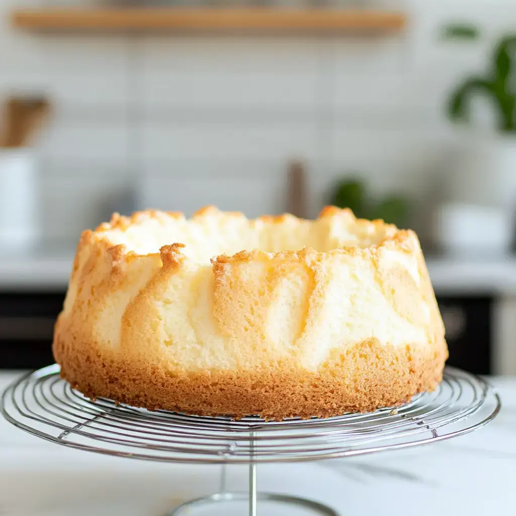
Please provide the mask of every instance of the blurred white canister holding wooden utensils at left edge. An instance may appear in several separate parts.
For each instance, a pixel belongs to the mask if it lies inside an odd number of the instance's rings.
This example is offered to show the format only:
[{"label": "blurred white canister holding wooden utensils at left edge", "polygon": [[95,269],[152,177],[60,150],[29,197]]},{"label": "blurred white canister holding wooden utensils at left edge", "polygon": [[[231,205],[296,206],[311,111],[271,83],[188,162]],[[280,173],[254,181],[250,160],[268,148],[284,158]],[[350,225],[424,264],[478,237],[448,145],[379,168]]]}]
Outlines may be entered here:
[{"label": "blurred white canister holding wooden utensils at left edge", "polygon": [[0,252],[34,245],[37,235],[37,175],[33,153],[0,148]]}]

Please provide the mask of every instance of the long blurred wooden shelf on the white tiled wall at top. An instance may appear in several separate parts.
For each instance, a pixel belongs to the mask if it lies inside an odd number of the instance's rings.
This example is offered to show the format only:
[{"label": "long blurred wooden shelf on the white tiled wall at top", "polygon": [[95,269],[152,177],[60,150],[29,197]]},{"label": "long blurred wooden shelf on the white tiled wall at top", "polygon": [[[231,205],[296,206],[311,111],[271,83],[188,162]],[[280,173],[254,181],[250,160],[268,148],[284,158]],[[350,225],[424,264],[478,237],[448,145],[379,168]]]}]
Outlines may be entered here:
[{"label": "long blurred wooden shelf on the white tiled wall at top", "polygon": [[402,13],[288,8],[24,9],[14,26],[37,31],[158,31],[334,33],[401,30]]}]

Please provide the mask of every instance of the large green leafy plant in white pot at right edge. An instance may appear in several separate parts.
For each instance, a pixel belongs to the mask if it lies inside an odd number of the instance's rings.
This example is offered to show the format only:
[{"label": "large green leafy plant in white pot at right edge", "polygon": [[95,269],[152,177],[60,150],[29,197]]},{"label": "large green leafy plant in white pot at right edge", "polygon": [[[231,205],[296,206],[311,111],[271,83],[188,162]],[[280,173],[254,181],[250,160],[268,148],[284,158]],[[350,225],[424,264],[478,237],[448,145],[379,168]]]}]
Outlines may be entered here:
[{"label": "large green leafy plant in white pot at right edge", "polygon": [[[487,101],[494,127],[472,120],[474,102]],[[466,127],[452,161],[450,195],[454,200],[509,210],[516,207],[516,35],[494,46],[484,73],[465,78],[450,93],[448,118]]]}]

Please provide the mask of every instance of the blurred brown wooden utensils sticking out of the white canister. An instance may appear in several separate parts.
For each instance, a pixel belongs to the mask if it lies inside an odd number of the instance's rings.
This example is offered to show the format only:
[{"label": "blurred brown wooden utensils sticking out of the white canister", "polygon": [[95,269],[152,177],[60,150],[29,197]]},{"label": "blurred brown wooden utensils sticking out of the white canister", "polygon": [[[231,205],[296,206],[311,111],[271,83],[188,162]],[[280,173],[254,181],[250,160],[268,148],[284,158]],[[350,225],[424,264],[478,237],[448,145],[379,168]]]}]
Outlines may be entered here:
[{"label": "blurred brown wooden utensils sticking out of the white canister", "polygon": [[10,98],[4,108],[3,147],[23,147],[41,126],[50,111],[44,98]]}]

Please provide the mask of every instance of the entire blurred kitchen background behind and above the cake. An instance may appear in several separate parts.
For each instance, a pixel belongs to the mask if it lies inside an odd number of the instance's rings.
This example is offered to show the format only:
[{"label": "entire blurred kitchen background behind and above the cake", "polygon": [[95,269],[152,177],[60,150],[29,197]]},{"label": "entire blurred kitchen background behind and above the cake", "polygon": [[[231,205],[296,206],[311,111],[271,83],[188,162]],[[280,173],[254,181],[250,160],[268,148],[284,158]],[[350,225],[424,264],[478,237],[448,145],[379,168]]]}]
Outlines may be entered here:
[{"label": "entire blurred kitchen background behind and above the cake", "polygon": [[516,374],[514,0],[2,0],[0,96],[0,367],[52,362],[112,212],[336,203],[418,232],[451,364]]}]

